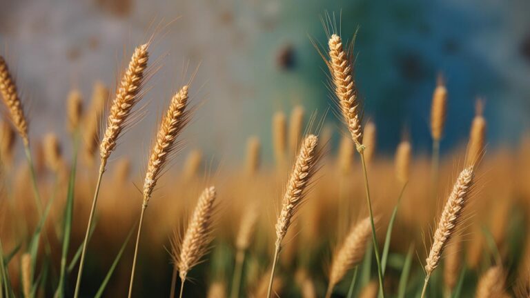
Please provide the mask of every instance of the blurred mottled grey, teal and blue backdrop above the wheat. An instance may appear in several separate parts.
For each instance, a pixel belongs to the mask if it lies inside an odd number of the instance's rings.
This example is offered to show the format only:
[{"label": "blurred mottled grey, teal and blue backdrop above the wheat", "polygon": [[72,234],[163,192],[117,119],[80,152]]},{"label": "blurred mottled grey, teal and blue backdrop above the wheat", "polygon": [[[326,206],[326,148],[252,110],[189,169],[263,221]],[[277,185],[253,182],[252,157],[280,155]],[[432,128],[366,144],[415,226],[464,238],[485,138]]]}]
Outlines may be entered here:
[{"label": "blurred mottled grey, teal and blue backdrop above the wheat", "polygon": [[[257,135],[271,159],[273,112],[302,104],[320,118],[330,104],[325,65],[311,43],[326,43],[326,10],[335,12],[344,38],[359,28],[357,83],[381,152],[393,152],[403,135],[416,152],[429,151],[438,74],[449,90],[451,119],[442,152],[465,142],[477,97],[485,101],[489,148],[516,143],[529,126],[526,0],[1,2],[0,51],[17,74],[35,136],[55,130],[66,138],[68,91],[79,88],[88,105],[95,81],[113,90],[130,52],[156,32],[151,61],[161,68],[148,82],[148,115],[124,137],[131,146],[119,147],[137,166],[171,92],[199,64],[188,147],[235,160],[247,137]],[[157,29],[158,23],[170,24]],[[342,129],[333,113],[326,122]]]}]

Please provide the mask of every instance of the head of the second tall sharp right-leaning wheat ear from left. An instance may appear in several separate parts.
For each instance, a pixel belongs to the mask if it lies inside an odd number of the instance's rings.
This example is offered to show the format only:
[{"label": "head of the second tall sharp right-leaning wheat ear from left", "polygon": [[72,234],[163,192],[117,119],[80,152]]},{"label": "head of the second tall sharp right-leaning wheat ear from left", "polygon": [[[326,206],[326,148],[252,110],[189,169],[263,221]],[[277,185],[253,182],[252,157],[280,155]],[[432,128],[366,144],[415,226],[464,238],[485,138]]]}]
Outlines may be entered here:
[{"label": "head of the second tall sharp right-leaning wheat ear from left", "polygon": [[188,112],[185,112],[188,103],[188,86],[184,86],[175,93],[166,112],[166,116],[160,123],[157,139],[151,150],[147,165],[146,178],[144,179],[144,205],[147,205],[153,188],[159,179],[162,168],[170,160],[175,152],[176,139],[181,130],[188,123]]}]

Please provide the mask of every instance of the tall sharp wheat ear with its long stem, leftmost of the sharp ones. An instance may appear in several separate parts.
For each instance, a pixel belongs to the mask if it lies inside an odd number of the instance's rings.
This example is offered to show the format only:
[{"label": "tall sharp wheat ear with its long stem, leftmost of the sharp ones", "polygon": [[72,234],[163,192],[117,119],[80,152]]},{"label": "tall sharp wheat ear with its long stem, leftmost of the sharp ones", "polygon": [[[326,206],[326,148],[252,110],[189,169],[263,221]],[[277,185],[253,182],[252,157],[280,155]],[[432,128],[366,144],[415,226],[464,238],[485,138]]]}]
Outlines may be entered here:
[{"label": "tall sharp wheat ear with its long stem, leftmost of the sharp ones", "polygon": [[90,227],[92,226],[92,219],[97,205],[97,197],[99,195],[99,187],[101,186],[101,178],[105,172],[105,166],[112,150],[116,148],[117,139],[120,132],[124,130],[127,124],[130,123],[128,118],[133,112],[133,106],[141,98],[141,87],[144,83],[145,72],[147,68],[147,61],[149,43],[145,43],[135,49],[133,57],[129,61],[129,65],[121,78],[119,86],[116,90],[115,99],[112,101],[110,113],[107,119],[107,127],[104,137],[99,144],[99,156],[101,158],[99,165],[99,175],[97,178],[96,189],[94,192],[94,199],[92,199],[92,207],[90,208],[90,215],[88,216],[88,224],[86,227],[85,239],[83,241],[83,249],[81,250],[81,260],[79,261],[79,271],[77,273],[77,281],[75,285],[74,298],[79,297],[79,286],[81,284],[81,276],[83,273],[83,266],[86,254],[86,246],[88,244],[88,235]]}]

